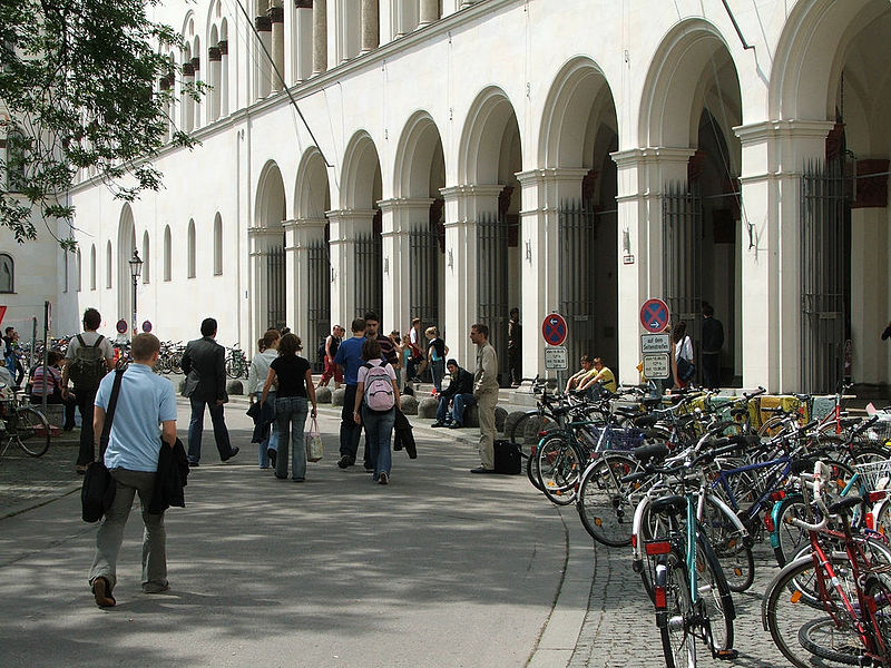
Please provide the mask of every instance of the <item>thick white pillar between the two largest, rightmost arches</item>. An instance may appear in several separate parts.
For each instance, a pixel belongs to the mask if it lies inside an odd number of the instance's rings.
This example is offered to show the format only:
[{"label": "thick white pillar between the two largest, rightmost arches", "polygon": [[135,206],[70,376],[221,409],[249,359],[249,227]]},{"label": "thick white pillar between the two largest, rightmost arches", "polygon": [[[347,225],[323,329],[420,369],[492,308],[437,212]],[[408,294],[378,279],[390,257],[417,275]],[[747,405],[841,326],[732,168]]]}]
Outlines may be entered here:
[{"label": "thick white pillar between the two largest, rightmost arches", "polygon": [[[743,145],[743,385],[801,389],[801,173],[825,156],[834,124],[765,121],[734,128]],[[751,243],[750,243],[751,240]]]}]

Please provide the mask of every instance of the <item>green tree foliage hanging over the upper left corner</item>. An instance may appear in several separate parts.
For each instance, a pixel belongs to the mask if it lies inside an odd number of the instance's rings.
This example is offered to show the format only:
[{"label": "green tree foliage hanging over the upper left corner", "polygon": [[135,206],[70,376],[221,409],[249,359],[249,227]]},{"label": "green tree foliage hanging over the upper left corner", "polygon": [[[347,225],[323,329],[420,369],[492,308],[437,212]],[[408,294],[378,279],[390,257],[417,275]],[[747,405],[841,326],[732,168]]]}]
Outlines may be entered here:
[{"label": "green tree foliage hanging over the upper left corner", "polygon": [[[0,225],[19,243],[36,238],[33,213],[72,226],[68,191],[80,169],[125,200],[160,187],[151,159],[168,140],[176,101],[168,53],[182,40],[148,18],[158,2],[0,0]],[[173,129],[172,144],[193,141]]]}]

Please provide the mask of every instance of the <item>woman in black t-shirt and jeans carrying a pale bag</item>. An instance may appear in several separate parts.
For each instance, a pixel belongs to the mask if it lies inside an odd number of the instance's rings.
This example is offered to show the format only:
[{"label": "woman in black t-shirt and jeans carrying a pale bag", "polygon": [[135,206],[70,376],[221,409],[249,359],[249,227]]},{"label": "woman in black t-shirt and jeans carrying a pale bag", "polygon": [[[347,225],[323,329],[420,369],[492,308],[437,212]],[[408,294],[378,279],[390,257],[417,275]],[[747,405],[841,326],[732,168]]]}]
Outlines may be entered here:
[{"label": "woman in black t-shirt and jeans carrying a pale bag", "polygon": [[287,478],[287,441],[291,439],[291,479],[303,482],[306,479],[306,443],[303,428],[306,424],[309,401],[313,404],[312,416],[316,415],[315,386],[310,361],[297,355],[303,350],[300,338],[285,334],[278,342],[278,356],[270,364],[266,384],[260,403],[264,404],[273,384],[278,386],[275,395],[275,422],[278,428],[278,456],[275,462],[275,477]]}]

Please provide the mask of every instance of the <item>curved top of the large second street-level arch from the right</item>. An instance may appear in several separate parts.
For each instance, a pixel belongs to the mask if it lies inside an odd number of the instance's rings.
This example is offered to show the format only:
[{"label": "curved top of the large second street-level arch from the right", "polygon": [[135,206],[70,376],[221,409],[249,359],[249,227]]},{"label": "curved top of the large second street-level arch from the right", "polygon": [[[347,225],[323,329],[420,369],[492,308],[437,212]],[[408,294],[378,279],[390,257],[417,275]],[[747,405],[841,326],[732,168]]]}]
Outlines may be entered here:
[{"label": "curved top of the large second street-level arch from the right", "polygon": [[699,119],[695,105],[702,105],[703,81],[715,78],[715,58],[722,68],[730,66],[738,97],[735,66],[714,24],[687,19],[666,35],[653,55],[644,84],[637,127],[639,146],[694,146]]}]

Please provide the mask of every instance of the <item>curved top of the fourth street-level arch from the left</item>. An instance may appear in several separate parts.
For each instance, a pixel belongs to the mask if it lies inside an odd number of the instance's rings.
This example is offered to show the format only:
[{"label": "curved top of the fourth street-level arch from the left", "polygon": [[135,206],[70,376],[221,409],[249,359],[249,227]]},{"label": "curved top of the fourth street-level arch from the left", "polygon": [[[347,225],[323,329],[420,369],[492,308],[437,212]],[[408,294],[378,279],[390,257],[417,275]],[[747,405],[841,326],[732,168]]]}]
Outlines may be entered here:
[{"label": "curved top of the fourth street-level arch from the left", "polygon": [[[430,114],[415,111],[405,122],[396,145],[393,196],[432,196],[430,171],[434,160],[442,160],[444,165],[439,128]],[[435,195],[439,196],[439,193]]]}]

